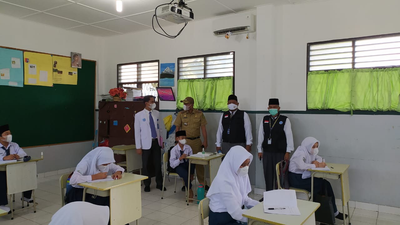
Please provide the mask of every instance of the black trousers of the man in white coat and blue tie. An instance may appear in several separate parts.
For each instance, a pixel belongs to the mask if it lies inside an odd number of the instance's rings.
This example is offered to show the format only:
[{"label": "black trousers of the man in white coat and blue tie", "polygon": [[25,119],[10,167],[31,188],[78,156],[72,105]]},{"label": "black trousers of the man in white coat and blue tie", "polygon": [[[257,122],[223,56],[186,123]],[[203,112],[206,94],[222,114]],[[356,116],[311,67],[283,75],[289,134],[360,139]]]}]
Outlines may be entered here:
[{"label": "black trousers of the man in white coat and blue tie", "polygon": [[149,177],[143,181],[144,186],[148,187],[151,184],[151,171],[154,171],[157,186],[162,186],[161,148],[157,139],[152,141],[150,149],[142,149],[142,167],[142,175]]}]

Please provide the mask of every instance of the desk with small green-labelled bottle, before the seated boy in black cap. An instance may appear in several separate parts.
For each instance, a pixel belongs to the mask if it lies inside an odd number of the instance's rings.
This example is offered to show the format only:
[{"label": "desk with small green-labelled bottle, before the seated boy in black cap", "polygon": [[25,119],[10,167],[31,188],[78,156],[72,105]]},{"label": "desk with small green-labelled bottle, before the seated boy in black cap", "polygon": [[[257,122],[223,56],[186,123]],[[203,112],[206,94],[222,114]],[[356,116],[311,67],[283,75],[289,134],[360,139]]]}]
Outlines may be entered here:
[{"label": "desk with small green-labelled bottle, before the seated boy in black cap", "polygon": [[[212,153],[209,153],[212,154]],[[190,171],[190,164],[198,164],[198,165],[209,165],[210,167],[210,186],[212,181],[214,180],[215,176],[218,173],[218,169],[220,168],[221,162],[222,162],[222,157],[224,154],[216,154],[216,155],[209,155],[204,158],[202,157],[195,157],[193,155],[190,155],[186,157],[186,159],[189,160],[189,170]],[[206,179],[206,170],[204,170],[204,179]],[[190,173],[188,174],[188,181],[190,181]],[[200,201],[197,199],[190,199],[190,200],[195,200],[195,201]],[[189,195],[186,193],[186,205],[189,205]]]}]

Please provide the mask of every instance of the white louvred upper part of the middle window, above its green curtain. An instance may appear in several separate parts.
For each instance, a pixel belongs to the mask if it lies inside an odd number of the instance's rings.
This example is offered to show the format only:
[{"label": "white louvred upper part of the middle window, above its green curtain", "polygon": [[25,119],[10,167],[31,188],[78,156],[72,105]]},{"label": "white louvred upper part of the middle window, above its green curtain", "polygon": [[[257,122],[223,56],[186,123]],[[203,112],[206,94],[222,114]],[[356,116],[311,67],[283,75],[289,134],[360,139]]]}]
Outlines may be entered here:
[{"label": "white louvred upper part of the middle window, above its green curtain", "polygon": [[234,76],[235,52],[178,58],[178,79]]}]

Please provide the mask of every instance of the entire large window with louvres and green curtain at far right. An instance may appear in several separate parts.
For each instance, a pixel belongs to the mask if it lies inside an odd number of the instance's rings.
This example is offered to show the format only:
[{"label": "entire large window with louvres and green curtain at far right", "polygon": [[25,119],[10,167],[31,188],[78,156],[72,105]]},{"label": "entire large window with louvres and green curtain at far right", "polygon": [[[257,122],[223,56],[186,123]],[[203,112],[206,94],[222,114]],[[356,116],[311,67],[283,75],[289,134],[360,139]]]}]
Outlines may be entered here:
[{"label": "entire large window with louvres and green curtain at far right", "polygon": [[308,44],[307,108],[400,112],[400,34]]}]

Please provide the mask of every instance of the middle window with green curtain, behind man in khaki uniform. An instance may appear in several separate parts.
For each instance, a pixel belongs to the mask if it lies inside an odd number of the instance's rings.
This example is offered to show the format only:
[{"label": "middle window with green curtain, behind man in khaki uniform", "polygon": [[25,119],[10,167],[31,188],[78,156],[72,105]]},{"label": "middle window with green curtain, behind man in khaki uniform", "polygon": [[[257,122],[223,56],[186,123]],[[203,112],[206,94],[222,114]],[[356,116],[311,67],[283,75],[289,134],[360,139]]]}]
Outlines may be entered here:
[{"label": "middle window with green curtain, behind man in khaki uniform", "polygon": [[233,93],[235,52],[178,58],[178,93],[180,100],[191,96],[194,108],[228,110],[226,102]]}]

